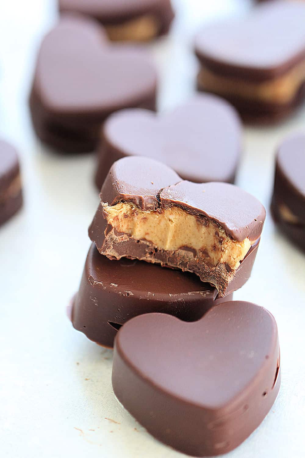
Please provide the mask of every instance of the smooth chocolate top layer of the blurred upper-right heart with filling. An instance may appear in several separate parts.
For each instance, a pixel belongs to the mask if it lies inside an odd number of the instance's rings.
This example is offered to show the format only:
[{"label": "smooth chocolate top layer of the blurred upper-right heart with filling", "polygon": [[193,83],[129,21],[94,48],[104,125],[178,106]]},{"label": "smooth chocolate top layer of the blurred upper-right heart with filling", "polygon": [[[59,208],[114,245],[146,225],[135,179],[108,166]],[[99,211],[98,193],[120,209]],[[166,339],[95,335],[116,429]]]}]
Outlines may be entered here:
[{"label": "smooth chocolate top layer of the blurred upper-right heart with filling", "polygon": [[249,16],[204,27],[196,54],[225,76],[262,81],[305,59],[305,3],[272,1]]}]

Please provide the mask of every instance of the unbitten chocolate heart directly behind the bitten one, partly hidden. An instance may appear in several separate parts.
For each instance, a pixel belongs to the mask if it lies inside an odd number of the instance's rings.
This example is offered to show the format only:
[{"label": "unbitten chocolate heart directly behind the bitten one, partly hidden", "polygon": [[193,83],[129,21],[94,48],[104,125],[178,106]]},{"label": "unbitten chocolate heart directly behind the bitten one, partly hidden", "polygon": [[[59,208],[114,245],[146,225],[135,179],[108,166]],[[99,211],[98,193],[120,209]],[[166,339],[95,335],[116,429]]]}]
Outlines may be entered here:
[{"label": "unbitten chocolate heart directly behind the bitten one, partly hidden", "polygon": [[114,161],[148,156],[184,179],[233,183],[241,153],[241,123],[224,100],[205,94],[168,114],[129,109],[112,114],[102,129],[96,185],[101,189]]}]

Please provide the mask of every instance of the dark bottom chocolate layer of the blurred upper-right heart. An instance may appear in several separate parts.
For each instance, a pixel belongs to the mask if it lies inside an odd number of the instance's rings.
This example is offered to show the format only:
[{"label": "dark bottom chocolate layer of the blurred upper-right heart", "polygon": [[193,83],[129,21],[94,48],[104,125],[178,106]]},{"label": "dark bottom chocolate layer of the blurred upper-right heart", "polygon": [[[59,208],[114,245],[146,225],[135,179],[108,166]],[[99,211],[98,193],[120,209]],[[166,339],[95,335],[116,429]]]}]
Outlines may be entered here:
[{"label": "dark bottom chocolate layer of the blurred upper-right heart", "polygon": [[[206,89],[197,82],[197,90],[205,91]],[[209,91],[210,92],[210,91]],[[220,95],[215,92],[215,95]],[[293,113],[305,100],[305,82],[302,83],[294,98],[286,104],[275,104],[270,102],[260,102],[247,100],[230,94],[221,94],[228,100],[240,113],[243,120],[254,124],[273,124]]]}]

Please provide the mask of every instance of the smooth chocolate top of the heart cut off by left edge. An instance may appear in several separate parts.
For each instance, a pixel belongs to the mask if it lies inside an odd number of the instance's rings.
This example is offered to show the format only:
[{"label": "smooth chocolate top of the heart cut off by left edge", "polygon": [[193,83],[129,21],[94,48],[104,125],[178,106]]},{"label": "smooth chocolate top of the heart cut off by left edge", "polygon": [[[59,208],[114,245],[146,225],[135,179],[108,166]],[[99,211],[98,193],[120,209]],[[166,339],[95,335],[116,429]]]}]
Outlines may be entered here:
[{"label": "smooth chocolate top of the heart cut off by left edge", "polygon": [[0,140],[0,192],[5,191],[19,173],[19,161],[15,148]]}]

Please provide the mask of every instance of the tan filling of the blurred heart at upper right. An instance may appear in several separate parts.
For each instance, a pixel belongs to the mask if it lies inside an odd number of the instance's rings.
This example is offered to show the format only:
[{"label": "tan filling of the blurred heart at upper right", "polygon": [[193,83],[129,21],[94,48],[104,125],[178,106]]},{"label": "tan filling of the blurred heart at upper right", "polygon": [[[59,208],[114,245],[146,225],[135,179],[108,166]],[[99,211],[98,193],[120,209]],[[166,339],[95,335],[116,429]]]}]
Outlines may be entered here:
[{"label": "tan filling of the blurred heart at upper right", "polygon": [[263,102],[287,103],[291,101],[305,81],[305,60],[285,75],[261,83],[246,82],[239,78],[219,76],[202,66],[198,74],[198,86],[220,95],[262,100]]}]

